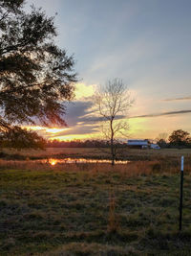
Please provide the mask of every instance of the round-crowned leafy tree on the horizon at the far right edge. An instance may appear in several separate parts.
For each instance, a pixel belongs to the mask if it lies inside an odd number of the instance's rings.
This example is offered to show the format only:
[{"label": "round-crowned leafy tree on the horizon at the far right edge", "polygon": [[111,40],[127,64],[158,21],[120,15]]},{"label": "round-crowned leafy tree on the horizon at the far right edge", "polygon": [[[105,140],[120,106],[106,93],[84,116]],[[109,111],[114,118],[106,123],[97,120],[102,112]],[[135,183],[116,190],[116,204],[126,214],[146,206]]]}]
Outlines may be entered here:
[{"label": "round-crowned leafy tree on the horizon at the far right edge", "polygon": [[177,129],[172,132],[168,140],[171,145],[185,146],[186,144],[191,142],[191,138],[189,135],[189,132],[182,129]]}]

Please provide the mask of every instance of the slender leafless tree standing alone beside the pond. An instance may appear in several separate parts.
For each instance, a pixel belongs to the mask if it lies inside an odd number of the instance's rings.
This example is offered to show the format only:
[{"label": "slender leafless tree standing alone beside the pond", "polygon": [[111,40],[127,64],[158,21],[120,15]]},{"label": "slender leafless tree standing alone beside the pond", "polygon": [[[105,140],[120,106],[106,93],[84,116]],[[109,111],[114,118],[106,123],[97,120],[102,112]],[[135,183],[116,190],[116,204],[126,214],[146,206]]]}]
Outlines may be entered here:
[{"label": "slender leafless tree standing alone beside the pond", "polygon": [[127,112],[133,101],[126,85],[121,79],[107,81],[100,86],[96,94],[96,105],[99,115],[102,117],[102,132],[110,141],[112,165],[116,159],[117,138],[127,136],[129,129]]}]

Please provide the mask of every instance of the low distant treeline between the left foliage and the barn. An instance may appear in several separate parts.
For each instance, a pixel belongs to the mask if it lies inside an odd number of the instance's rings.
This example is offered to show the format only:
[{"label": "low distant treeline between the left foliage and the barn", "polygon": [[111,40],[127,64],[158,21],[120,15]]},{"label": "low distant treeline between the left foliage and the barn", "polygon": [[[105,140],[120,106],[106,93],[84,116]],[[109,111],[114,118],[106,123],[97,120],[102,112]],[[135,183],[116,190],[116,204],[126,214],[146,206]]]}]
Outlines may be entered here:
[{"label": "low distant treeline between the left foliage and the barn", "polygon": [[[127,147],[127,143],[116,142],[117,148]],[[73,141],[47,141],[47,148],[108,148],[110,142],[106,140],[73,140]]]}]

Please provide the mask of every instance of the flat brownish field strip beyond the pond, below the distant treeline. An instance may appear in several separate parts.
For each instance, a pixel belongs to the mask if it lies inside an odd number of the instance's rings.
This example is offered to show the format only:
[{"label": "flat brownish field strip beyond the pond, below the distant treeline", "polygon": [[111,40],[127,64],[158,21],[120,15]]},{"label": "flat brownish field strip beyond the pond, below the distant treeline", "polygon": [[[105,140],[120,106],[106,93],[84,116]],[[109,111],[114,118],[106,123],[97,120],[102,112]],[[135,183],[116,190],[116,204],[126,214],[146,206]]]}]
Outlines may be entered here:
[{"label": "flat brownish field strip beyond the pond, below the distant treeline", "polygon": [[[46,157],[85,157],[85,158],[106,158],[110,159],[111,153],[109,149],[97,149],[97,148],[47,148],[45,151],[32,151],[23,150],[15,151],[4,149],[3,152],[12,157],[7,158],[19,158],[26,159],[30,157],[46,158]],[[191,149],[163,149],[163,150],[134,150],[134,149],[118,149],[117,159],[120,160],[163,160],[164,158],[180,158],[180,155],[184,155],[191,158]]]}]

